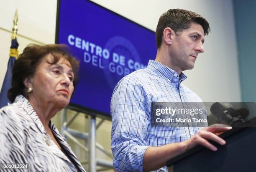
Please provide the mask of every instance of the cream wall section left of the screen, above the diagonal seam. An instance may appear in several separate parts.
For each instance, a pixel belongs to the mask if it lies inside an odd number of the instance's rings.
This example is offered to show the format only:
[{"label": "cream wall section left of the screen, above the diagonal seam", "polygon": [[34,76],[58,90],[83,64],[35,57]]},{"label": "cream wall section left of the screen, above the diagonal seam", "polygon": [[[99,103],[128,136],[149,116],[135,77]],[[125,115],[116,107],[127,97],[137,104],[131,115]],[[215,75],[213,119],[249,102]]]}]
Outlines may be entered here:
[{"label": "cream wall section left of the screen, above the diagonal seam", "polygon": [[57,0],[0,0],[1,28],[12,29],[16,9],[19,34],[42,43],[54,43]]}]

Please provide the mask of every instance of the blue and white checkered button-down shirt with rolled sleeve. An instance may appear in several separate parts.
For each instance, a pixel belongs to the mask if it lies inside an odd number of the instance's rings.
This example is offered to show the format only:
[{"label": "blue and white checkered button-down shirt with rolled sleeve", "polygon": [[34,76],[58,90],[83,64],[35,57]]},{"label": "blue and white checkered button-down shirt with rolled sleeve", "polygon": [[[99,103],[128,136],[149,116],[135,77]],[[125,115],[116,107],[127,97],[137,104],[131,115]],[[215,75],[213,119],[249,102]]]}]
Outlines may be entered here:
[{"label": "blue and white checkered button-down shirt with rolled sleeve", "polygon": [[[181,82],[187,76],[150,60],[147,68],[122,78],[111,99],[111,149],[118,172],[143,171],[143,156],[150,146],[158,147],[189,139],[199,128],[150,125],[151,102],[202,102]],[[207,114],[206,114],[207,115]],[[156,170],[167,172],[167,167]]]}]

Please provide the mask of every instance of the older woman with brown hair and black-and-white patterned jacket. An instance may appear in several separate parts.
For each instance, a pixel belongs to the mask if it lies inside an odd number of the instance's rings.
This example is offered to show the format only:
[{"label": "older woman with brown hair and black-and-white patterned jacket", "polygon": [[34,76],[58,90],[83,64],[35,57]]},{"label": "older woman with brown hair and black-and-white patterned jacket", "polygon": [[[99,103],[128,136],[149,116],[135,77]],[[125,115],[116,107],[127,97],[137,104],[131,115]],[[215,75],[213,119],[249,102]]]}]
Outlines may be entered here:
[{"label": "older woman with brown hair and black-and-white patterned jacket", "polygon": [[0,109],[2,170],[10,169],[7,163],[18,170],[27,163],[31,172],[84,172],[51,122],[69,104],[78,68],[64,45],[30,45],[20,54],[8,91],[13,103]]}]

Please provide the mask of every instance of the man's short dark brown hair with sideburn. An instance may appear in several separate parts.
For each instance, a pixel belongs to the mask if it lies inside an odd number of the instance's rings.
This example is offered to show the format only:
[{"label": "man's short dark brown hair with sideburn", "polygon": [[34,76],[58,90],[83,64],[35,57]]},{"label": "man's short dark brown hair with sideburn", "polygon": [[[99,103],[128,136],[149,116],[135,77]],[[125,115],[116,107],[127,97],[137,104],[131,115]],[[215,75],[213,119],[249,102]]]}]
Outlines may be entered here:
[{"label": "man's short dark brown hair with sideburn", "polygon": [[179,35],[182,30],[190,28],[192,22],[198,23],[204,29],[205,35],[210,32],[210,25],[201,15],[188,10],[170,9],[162,14],[156,27],[156,46],[160,48],[165,28],[171,28]]}]

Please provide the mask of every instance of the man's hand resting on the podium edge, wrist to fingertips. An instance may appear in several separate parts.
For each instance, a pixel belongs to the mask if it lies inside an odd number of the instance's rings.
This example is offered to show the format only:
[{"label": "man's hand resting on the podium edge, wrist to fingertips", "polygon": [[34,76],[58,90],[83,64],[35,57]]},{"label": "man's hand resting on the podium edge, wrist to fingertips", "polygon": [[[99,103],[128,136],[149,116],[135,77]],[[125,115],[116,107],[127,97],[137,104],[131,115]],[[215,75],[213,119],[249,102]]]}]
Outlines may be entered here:
[{"label": "man's hand resting on the podium edge, wrist to fingertips", "polygon": [[186,144],[186,151],[188,149],[191,149],[198,144],[207,147],[208,149],[212,151],[216,151],[217,147],[210,144],[207,140],[212,140],[220,145],[224,145],[226,142],[222,138],[218,137],[223,132],[226,132],[228,130],[232,129],[232,127],[224,124],[213,124],[211,126],[208,126],[206,128],[202,128],[197,134],[195,134],[190,139],[184,141]]}]

